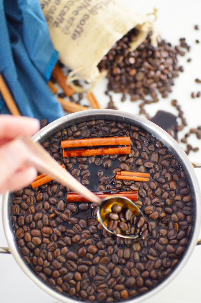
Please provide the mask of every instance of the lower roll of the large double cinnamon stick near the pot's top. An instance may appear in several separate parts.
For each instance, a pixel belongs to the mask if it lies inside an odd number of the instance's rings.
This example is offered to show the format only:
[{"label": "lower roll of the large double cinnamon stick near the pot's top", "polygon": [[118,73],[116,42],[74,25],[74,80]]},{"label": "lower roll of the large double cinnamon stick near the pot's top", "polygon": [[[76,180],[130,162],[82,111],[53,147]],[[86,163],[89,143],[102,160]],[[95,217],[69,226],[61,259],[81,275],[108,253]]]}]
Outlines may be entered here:
[{"label": "lower roll of the large double cinnamon stick near the pot's top", "polygon": [[73,151],[63,150],[63,157],[82,157],[95,155],[125,155],[131,153],[131,146],[123,147],[100,147],[88,149],[76,149]]}]

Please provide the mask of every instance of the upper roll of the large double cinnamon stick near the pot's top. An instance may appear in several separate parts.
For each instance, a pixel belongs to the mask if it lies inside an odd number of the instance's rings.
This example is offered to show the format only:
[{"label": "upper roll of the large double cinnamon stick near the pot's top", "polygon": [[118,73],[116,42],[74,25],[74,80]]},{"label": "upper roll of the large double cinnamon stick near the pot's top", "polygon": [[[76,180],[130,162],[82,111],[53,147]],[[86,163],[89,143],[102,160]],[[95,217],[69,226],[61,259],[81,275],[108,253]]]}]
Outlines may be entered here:
[{"label": "upper roll of the large double cinnamon stick near the pot's top", "polygon": [[61,141],[62,148],[105,145],[131,145],[131,137],[86,138]]}]

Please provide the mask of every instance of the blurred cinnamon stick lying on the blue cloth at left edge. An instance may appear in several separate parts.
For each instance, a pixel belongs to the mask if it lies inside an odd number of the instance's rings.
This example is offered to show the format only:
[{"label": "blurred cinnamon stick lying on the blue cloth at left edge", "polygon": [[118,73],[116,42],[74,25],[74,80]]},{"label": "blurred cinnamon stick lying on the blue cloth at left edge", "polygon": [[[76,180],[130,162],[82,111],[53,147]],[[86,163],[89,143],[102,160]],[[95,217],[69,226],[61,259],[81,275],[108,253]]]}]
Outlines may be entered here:
[{"label": "blurred cinnamon stick lying on the blue cloth at left edge", "polygon": [[1,74],[0,74],[0,92],[11,114],[15,116],[21,116],[21,113]]}]

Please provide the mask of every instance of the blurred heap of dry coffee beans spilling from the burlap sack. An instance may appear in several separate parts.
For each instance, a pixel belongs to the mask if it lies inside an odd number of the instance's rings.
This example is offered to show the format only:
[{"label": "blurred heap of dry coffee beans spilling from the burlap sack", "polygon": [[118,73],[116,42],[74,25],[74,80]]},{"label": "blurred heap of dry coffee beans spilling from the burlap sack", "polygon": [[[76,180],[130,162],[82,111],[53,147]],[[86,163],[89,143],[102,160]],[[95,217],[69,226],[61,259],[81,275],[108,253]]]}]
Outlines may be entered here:
[{"label": "blurred heap of dry coffee beans spilling from the burlap sack", "polygon": [[[157,47],[152,46],[150,34],[135,51],[129,52],[137,34],[135,28],[128,32],[113,46],[98,67],[100,71],[107,71],[108,91],[129,94],[131,101],[146,100],[145,97],[150,95],[151,101],[157,102],[157,90],[166,98],[172,91],[174,78],[183,72],[183,67],[178,65],[177,56],[185,55],[185,52],[179,46],[173,48],[165,40],[158,42]],[[181,47],[189,49],[185,38],[181,39]],[[122,101],[125,101],[125,95],[122,96]]]}]

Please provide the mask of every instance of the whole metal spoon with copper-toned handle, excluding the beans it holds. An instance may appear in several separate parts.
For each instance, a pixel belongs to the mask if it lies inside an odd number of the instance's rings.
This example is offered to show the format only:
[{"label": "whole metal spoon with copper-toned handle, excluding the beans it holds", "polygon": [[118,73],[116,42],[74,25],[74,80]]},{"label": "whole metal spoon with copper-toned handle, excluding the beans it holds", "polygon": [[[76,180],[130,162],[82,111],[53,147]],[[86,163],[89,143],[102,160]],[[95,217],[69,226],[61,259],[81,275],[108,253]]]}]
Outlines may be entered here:
[{"label": "whole metal spoon with copper-toned handle, excluding the beans it holds", "polygon": [[[122,208],[129,208],[137,217],[143,216],[137,205],[135,205],[135,203],[128,198],[117,195],[108,195],[106,198],[100,199],[97,195],[94,195],[91,191],[89,191],[88,188],[77,181],[68,171],[63,169],[38,142],[33,142],[30,138],[25,136],[19,136],[16,138],[16,140],[21,140],[21,142],[23,142],[28,148],[28,165],[33,165],[41,173],[49,175],[60,184],[69,187],[73,191],[76,191],[87,198],[89,201],[96,203],[98,206],[98,221],[109,233],[116,235],[107,227],[108,212],[111,211],[113,205],[118,204],[121,205]],[[126,235],[123,231],[121,231],[121,234],[116,236],[128,239],[138,238],[138,235]]]}]

